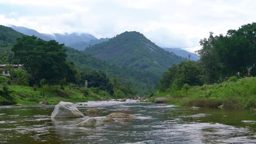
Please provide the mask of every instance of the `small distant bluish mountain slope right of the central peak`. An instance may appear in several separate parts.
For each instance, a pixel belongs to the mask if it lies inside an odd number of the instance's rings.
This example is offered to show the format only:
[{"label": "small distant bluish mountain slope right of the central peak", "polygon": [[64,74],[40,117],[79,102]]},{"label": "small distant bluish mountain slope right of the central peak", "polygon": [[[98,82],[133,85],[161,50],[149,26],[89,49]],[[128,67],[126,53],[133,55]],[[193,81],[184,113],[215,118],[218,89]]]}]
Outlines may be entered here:
[{"label": "small distant bluish mountain slope right of the central peak", "polygon": [[183,58],[188,58],[188,54],[190,54],[190,60],[198,61],[200,60],[200,57],[197,54],[194,54],[192,52],[188,52],[186,50],[182,50],[180,48],[164,48],[164,50],[168,52],[173,52],[174,54],[181,56]]}]

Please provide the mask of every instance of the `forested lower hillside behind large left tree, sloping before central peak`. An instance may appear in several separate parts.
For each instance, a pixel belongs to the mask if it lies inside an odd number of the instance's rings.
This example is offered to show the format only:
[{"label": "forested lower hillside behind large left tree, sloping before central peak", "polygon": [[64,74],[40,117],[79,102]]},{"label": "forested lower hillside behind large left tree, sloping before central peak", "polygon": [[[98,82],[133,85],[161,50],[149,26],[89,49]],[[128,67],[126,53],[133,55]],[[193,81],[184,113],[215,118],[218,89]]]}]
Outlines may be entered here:
[{"label": "forested lower hillside behind large left tree, sloping before central peak", "polygon": [[[12,54],[11,48],[16,42],[16,38],[24,34],[13,30],[10,27],[0,25],[0,54],[8,51]],[[64,47],[67,60],[75,64],[79,70],[102,70],[106,72],[110,79],[118,78],[121,82],[131,84],[140,94],[152,92],[159,82],[159,77],[150,71],[142,71],[128,66],[116,66],[102,61],[87,52],[81,52],[74,48]]]}]

